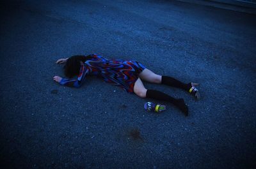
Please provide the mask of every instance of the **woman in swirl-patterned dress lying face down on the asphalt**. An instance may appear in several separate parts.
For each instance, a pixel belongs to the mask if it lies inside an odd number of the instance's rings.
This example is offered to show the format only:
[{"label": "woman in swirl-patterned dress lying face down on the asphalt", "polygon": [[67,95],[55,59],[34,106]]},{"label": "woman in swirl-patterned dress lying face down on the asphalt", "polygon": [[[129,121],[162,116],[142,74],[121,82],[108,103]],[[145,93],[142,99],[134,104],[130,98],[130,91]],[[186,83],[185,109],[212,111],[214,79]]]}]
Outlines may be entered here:
[{"label": "woman in swirl-patterned dress lying face down on the asphalt", "polygon": [[[56,63],[65,63],[65,76],[68,78],[53,77],[53,80],[61,85],[80,87],[88,75],[97,75],[102,77],[104,81],[118,85],[129,93],[135,93],[140,98],[168,101],[179,108],[186,116],[188,115],[188,106],[183,98],[176,99],[164,92],[146,89],[142,80],[155,84],[179,87],[190,92],[196,99],[200,98],[198,89],[196,89],[196,85],[199,84],[193,82],[184,84],[173,77],[157,75],[138,61],[106,59],[101,55],[91,54],[73,55],[66,59],[58,59]],[[75,76],[77,76],[77,79],[72,79]]]}]

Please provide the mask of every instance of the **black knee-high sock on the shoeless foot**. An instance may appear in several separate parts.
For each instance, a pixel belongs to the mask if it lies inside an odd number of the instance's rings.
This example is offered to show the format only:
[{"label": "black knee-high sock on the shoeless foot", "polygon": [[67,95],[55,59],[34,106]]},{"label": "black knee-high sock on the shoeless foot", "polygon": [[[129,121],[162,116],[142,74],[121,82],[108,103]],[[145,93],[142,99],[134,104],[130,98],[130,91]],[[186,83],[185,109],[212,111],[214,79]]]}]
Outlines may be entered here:
[{"label": "black knee-high sock on the shoeless foot", "polygon": [[184,103],[184,99],[175,99],[164,92],[156,91],[156,90],[147,90],[146,93],[147,98],[159,99],[163,101],[168,101],[178,107],[185,115],[188,115],[188,107]]}]

